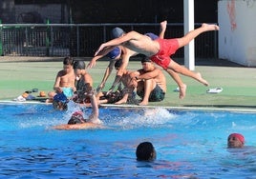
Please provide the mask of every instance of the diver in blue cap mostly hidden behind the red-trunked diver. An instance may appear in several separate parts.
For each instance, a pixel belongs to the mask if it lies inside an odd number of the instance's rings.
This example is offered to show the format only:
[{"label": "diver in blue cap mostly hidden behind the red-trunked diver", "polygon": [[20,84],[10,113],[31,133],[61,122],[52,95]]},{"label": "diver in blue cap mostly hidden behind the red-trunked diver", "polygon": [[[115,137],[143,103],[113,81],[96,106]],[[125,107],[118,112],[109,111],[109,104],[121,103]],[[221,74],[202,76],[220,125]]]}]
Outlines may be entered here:
[{"label": "diver in blue cap mostly hidden behind the red-trunked diver", "polygon": [[[154,33],[145,33],[146,37],[150,37],[152,39],[156,39],[156,38],[163,38],[164,32],[166,30],[166,26],[167,26],[167,21],[163,21],[160,23],[160,36],[155,35]],[[112,37],[113,38],[118,38],[122,35],[124,35],[125,32],[123,30],[121,30],[120,28],[115,28],[112,30]],[[132,56],[136,56],[139,53],[135,50],[131,50],[129,48],[126,48],[124,46],[117,46],[117,47],[109,47],[106,48],[105,50],[100,51],[92,60],[91,62],[88,64],[89,68],[92,68],[94,66],[96,66],[96,60],[99,58],[102,58],[103,56],[108,56],[110,57],[112,60],[110,61],[110,64],[108,66],[108,68],[105,70],[105,74],[104,77],[102,79],[101,84],[97,87],[96,91],[99,92],[101,89],[104,88],[105,83],[110,75],[110,73],[112,72],[114,65],[116,63],[117,60],[122,60],[122,65],[119,68],[119,70],[117,70],[117,76],[116,79],[110,89],[110,91],[112,91],[113,89],[115,89],[115,87],[117,86],[117,84],[120,81],[120,77],[123,74],[123,71],[127,68],[128,63],[129,63],[129,59]]]}]

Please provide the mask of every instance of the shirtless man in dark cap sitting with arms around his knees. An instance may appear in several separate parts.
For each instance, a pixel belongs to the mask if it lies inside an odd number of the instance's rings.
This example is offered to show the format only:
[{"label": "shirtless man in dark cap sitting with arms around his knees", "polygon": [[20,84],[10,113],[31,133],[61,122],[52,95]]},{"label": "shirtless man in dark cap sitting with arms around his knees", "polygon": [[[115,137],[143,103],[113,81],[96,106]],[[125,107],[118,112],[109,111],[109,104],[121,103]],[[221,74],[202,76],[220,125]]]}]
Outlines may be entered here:
[{"label": "shirtless man in dark cap sitting with arms around his knees", "polygon": [[138,70],[136,79],[139,80],[137,94],[142,98],[139,105],[148,105],[148,102],[162,101],[166,92],[166,79],[161,70],[145,57],[141,60],[142,68]]}]

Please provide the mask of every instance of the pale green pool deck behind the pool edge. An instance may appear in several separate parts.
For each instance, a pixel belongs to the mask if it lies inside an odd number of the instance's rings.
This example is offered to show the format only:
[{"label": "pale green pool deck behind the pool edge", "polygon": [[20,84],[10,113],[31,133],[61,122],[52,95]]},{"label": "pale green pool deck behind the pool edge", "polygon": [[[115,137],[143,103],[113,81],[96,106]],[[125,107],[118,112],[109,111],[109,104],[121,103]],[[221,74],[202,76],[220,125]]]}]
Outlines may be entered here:
[{"label": "pale green pool deck behind the pool edge", "polygon": [[[53,89],[56,72],[62,69],[60,57],[0,57],[0,100],[12,100],[26,90],[37,88],[48,92]],[[88,60],[91,58],[80,58]],[[182,59],[175,59],[183,64]],[[102,59],[96,68],[88,70],[93,76],[94,87],[102,77],[108,61]],[[138,70],[140,62],[131,59],[128,70]],[[181,75],[187,85],[186,96],[179,99],[177,85],[164,71],[167,79],[167,93],[162,102],[149,103],[148,107],[177,109],[245,109],[256,111],[256,69],[247,68],[221,59],[196,59],[196,70],[210,86],[204,87],[199,82]],[[115,74],[113,73],[105,89],[108,89]],[[220,93],[206,93],[207,89],[223,88]],[[34,96],[37,93],[32,93]]]}]

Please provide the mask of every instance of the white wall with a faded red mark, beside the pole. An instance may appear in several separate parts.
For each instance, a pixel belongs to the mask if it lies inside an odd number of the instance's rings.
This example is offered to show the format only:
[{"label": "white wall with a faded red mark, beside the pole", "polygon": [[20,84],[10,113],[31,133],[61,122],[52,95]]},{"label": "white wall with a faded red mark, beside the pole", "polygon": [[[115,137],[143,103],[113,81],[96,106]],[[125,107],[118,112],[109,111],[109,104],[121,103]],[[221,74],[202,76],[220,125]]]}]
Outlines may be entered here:
[{"label": "white wall with a faded red mark, beside the pole", "polygon": [[256,67],[256,0],[218,2],[219,57]]}]

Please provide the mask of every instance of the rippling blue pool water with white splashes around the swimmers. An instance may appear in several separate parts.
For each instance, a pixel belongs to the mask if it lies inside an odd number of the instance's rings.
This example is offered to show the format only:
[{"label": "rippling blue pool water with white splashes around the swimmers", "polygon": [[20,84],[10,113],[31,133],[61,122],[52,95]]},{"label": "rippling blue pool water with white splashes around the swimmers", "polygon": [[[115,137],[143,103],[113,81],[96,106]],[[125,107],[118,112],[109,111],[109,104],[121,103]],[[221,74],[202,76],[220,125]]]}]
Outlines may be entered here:
[{"label": "rippling blue pool water with white splashes around the swimmers", "polygon": [[[256,113],[100,108],[107,129],[53,129],[74,110],[0,103],[0,178],[256,178]],[[231,132],[245,149],[226,149]],[[143,141],[156,161],[136,160]]]}]

